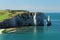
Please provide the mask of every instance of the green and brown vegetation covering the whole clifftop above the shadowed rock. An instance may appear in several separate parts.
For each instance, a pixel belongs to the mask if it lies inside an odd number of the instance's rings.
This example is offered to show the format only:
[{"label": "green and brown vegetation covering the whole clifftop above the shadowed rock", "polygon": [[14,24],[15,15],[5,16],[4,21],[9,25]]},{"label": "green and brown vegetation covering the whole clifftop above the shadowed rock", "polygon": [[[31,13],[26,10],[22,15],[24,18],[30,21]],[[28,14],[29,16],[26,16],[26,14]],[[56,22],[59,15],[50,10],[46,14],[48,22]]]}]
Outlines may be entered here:
[{"label": "green and brown vegetation covering the whole clifftop above the shadowed rock", "polygon": [[27,10],[0,10],[0,22],[2,22],[5,19],[11,19],[17,15],[22,14],[30,14],[33,15],[34,12],[29,12]]}]

